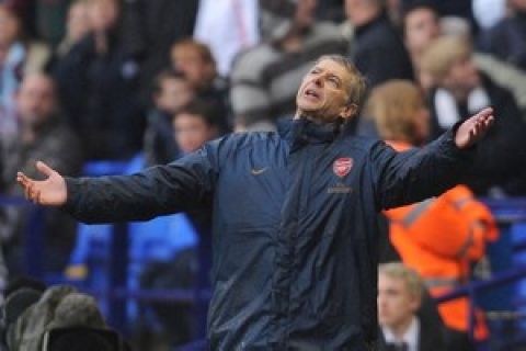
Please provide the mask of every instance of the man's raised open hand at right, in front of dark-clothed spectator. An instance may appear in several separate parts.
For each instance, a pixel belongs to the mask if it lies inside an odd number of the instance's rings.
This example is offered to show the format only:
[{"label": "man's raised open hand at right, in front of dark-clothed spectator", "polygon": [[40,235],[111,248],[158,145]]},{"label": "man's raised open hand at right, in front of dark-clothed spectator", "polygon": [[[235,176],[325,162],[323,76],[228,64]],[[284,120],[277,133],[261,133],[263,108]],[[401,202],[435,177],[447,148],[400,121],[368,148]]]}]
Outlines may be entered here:
[{"label": "man's raised open hand at right, in front of dark-clothed spectator", "polygon": [[460,124],[455,135],[455,144],[459,149],[472,146],[485,135],[494,121],[493,109],[485,107]]}]

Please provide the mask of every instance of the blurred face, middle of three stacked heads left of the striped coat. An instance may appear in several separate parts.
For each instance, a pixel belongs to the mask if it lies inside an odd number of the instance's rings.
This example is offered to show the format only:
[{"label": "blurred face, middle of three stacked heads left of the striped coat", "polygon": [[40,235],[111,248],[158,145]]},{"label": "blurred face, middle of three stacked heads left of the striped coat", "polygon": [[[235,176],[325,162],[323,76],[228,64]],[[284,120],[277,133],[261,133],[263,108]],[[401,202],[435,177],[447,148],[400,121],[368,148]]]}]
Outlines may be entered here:
[{"label": "blurred face, middle of three stacked heads left of the striped coat", "polygon": [[160,91],[155,98],[156,105],[170,114],[175,114],[194,98],[192,87],[183,78],[164,78],[160,84]]}]

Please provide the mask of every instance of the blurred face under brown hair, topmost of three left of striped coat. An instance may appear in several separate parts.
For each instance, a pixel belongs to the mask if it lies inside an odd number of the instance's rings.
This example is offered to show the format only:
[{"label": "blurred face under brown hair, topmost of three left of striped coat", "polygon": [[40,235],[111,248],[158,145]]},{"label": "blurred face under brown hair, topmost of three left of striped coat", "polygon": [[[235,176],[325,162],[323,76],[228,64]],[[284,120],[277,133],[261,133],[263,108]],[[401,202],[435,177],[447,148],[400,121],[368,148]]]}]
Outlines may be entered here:
[{"label": "blurred face under brown hair, topmost of three left of striped coat", "polygon": [[207,61],[199,49],[191,44],[175,44],[171,52],[172,67],[184,72],[194,88],[208,83],[215,77],[214,63]]}]

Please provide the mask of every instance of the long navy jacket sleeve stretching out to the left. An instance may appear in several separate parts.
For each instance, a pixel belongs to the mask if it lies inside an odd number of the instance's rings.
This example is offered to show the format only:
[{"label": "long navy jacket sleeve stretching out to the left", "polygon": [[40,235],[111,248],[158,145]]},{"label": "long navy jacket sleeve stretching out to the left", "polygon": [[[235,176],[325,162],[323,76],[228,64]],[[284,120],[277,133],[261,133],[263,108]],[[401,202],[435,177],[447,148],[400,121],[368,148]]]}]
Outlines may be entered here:
[{"label": "long navy jacket sleeve stretching out to the left", "polygon": [[145,220],[203,206],[218,174],[222,139],[133,176],[67,178],[66,212],[85,223]]}]

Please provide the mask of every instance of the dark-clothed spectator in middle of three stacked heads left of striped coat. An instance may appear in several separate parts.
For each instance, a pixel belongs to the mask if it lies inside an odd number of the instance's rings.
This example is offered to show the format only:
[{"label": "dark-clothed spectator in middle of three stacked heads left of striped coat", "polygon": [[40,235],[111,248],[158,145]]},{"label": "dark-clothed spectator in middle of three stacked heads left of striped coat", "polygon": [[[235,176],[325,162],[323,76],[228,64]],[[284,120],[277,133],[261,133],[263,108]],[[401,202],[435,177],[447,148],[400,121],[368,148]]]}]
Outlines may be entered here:
[{"label": "dark-clothed spectator in middle of three stacked heads left of striped coat", "polygon": [[173,115],[194,99],[194,90],[182,72],[159,73],[153,87],[153,107],[148,113],[144,151],[147,166],[163,165],[179,157],[172,133]]}]

